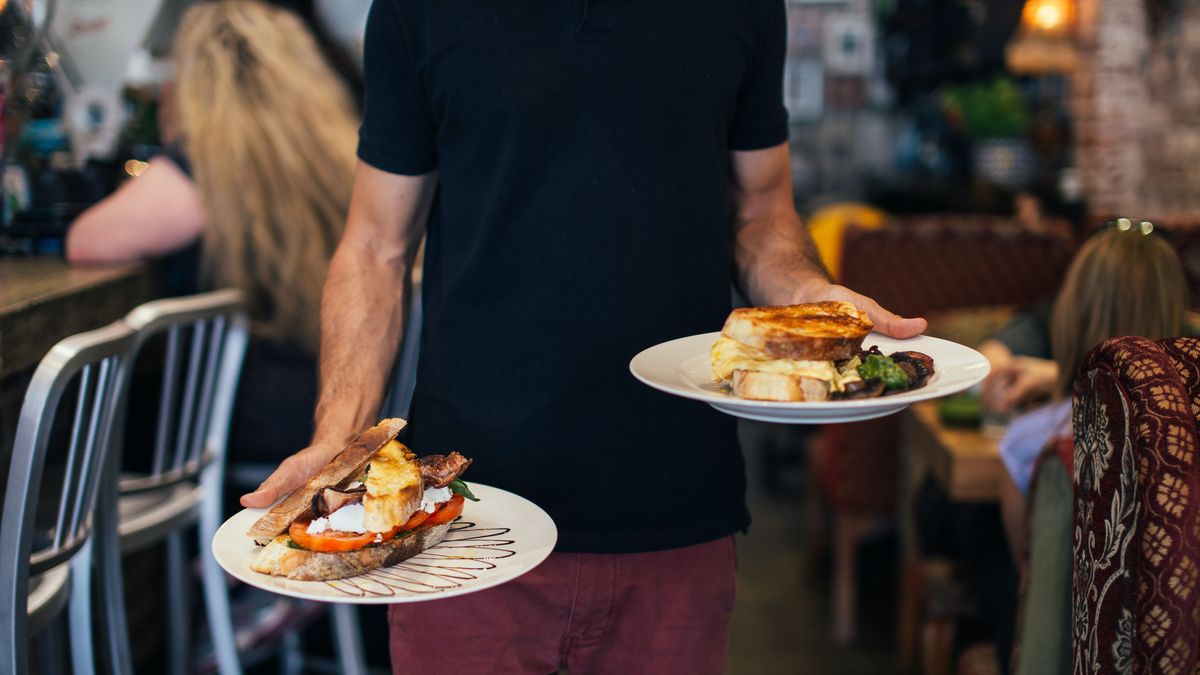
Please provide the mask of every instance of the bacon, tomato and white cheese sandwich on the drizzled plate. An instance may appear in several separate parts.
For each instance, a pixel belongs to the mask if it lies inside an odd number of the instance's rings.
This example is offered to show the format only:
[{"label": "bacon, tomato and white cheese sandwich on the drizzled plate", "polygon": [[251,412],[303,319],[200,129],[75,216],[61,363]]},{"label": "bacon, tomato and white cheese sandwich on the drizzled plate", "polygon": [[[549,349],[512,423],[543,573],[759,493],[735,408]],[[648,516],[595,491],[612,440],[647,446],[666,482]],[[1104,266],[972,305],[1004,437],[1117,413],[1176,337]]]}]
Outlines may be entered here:
[{"label": "bacon, tomato and white cheese sandwich on the drizzled plate", "polygon": [[403,419],[367,429],[271,508],[247,534],[264,546],[251,568],[302,581],[354,577],[412,557],[445,537],[475,500],[458,453],[418,458],[396,434]]}]

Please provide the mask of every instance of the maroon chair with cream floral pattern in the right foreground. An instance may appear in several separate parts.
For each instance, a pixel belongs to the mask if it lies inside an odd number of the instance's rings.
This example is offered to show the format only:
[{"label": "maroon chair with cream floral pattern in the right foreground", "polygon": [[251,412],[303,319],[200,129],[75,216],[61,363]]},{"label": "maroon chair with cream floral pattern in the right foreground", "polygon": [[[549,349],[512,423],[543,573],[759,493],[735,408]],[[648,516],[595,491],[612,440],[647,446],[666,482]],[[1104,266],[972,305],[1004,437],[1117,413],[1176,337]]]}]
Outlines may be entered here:
[{"label": "maroon chair with cream floral pattern in the right foreground", "polygon": [[1108,340],[1074,406],[1074,673],[1200,663],[1200,340]]}]

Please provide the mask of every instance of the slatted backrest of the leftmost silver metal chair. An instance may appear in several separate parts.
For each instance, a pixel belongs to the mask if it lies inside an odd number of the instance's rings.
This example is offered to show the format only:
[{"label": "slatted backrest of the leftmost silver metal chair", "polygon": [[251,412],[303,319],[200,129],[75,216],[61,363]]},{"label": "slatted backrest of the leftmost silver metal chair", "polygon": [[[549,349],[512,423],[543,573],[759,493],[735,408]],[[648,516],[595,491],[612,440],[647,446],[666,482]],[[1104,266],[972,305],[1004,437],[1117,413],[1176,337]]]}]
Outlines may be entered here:
[{"label": "slatted backrest of the leftmost silver metal chair", "polygon": [[[25,394],[0,520],[0,671],[28,673],[29,579],[68,561],[91,536],[113,420],[125,395],[133,329],[121,322],[64,339],[42,359]],[[34,545],[35,515],[52,430],[72,383],[61,495]]]}]

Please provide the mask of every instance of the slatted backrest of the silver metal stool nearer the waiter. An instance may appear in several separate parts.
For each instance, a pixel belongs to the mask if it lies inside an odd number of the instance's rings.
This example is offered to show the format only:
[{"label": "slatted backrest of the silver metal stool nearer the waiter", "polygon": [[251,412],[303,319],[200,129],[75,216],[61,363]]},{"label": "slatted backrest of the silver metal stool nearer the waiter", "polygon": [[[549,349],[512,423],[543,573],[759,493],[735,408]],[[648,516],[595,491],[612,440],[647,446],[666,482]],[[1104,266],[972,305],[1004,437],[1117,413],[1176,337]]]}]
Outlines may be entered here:
[{"label": "slatted backrest of the silver metal stool nearer the waiter", "polygon": [[152,300],[126,315],[138,351],[162,334],[167,347],[152,466],[148,474],[124,478],[121,492],[192,480],[221,459],[246,352],[245,305],[240,291],[223,289]]}]

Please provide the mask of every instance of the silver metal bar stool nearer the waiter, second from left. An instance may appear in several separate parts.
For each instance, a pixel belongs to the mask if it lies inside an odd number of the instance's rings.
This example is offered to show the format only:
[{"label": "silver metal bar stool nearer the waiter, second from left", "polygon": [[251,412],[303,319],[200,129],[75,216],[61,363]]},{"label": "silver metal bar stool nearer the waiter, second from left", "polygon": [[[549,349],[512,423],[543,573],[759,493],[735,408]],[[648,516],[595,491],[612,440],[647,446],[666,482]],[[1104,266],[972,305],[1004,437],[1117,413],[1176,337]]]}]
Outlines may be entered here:
[{"label": "silver metal bar stool nearer the waiter, second from left", "polygon": [[[98,534],[108,643],[118,664],[114,669],[127,671],[120,664],[131,662],[121,556],[164,542],[169,671],[188,671],[190,585],[184,534],[198,525],[205,608],[217,662],[224,674],[240,673],[224,573],[209,550],[221,525],[226,442],[246,352],[245,298],[240,291],[223,289],[154,300],[133,309],[124,321],[137,334],[134,354],[164,335],[166,356],[152,466],[148,473],[120,476],[115,508],[106,512],[116,519],[106,522]],[[116,437],[124,441],[124,425],[118,429]]]}]

